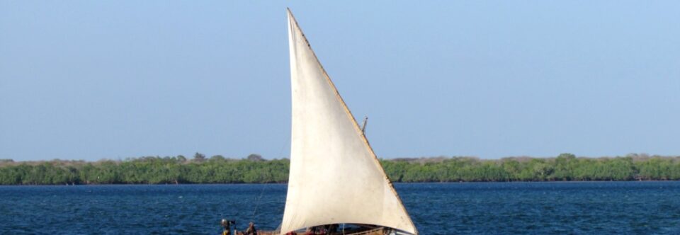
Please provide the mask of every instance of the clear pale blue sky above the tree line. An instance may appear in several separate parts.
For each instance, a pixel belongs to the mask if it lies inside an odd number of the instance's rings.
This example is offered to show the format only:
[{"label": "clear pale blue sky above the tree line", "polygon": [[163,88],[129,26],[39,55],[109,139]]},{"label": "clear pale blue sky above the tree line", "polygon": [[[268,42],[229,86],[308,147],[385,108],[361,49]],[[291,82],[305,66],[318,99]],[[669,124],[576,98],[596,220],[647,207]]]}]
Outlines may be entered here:
[{"label": "clear pale blue sky above the tree line", "polygon": [[0,1],[0,159],[288,156],[286,6],[380,157],[680,154],[680,1]]}]

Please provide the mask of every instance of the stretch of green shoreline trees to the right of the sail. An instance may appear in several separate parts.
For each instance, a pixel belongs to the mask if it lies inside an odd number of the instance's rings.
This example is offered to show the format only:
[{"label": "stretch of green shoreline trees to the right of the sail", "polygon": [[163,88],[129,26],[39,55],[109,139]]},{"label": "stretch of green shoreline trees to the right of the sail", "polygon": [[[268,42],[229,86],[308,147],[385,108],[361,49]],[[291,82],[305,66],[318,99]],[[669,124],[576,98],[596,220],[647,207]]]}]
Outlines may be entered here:
[{"label": "stretch of green shoreline trees to the right of the sail", "polygon": [[629,154],[623,157],[513,157],[480,160],[469,157],[382,161],[395,182],[680,180],[680,156]]}]

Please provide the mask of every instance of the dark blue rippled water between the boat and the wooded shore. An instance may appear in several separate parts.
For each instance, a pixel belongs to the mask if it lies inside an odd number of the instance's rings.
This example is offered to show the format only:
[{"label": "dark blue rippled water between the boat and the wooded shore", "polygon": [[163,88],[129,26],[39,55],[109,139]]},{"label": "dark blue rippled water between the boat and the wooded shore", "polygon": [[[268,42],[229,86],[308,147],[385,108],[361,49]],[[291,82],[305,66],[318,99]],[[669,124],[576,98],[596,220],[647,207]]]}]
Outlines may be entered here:
[{"label": "dark blue rippled water between the boat and the wooded shore", "polygon": [[[421,234],[680,234],[680,182],[397,183]],[[1,186],[0,234],[278,227],[286,185]]]}]

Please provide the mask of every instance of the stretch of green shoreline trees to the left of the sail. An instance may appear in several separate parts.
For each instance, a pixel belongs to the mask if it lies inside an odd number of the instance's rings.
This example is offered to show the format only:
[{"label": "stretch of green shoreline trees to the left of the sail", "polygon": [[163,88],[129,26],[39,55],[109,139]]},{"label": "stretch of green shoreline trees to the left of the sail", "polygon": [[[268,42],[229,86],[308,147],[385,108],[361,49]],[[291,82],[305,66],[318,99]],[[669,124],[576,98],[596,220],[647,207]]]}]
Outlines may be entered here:
[{"label": "stretch of green shoreline trees to the left of the sail", "polygon": [[251,154],[234,160],[196,153],[184,156],[145,156],[125,161],[0,161],[0,185],[163,184],[163,183],[283,183],[288,159],[265,161]]}]

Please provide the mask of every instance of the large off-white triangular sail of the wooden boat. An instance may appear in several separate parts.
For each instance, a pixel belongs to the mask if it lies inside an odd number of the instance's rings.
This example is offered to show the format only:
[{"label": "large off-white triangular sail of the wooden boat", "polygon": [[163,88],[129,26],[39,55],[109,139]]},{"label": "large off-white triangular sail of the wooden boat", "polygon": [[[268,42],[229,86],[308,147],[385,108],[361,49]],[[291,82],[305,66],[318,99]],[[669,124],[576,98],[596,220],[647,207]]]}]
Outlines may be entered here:
[{"label": "large off-white triangular sail of the wooden boat", "polygon": [[281,233],[375,224],[417,234],[392,183],[288,11],[293,123]]}]

